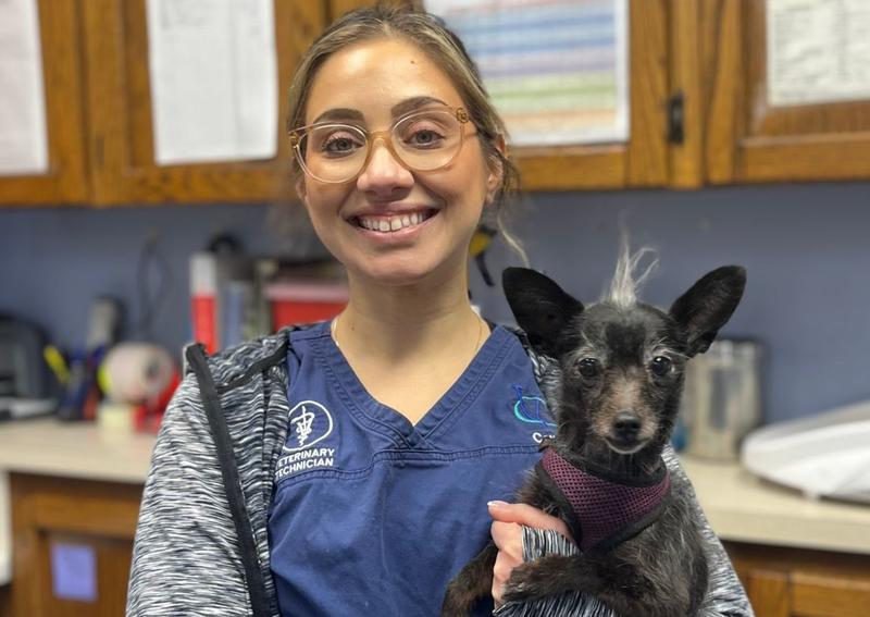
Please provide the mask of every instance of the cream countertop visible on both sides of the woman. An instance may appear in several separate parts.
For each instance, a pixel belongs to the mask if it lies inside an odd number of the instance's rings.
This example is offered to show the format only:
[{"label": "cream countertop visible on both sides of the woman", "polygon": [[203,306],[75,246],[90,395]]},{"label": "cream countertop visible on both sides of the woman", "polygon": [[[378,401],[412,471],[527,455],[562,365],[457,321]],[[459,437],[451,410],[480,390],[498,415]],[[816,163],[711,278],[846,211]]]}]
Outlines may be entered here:
[{"label": "cream countertop visible on both sides of the woman", "polygon": [[[9,472],[140,484],[153,445],[152,435],[107,433],[85,423],[0,423],[0,584],[11,570]],[[870,505],[809,499],[736,462],[682,461],[723,540],[870,555]]]}]

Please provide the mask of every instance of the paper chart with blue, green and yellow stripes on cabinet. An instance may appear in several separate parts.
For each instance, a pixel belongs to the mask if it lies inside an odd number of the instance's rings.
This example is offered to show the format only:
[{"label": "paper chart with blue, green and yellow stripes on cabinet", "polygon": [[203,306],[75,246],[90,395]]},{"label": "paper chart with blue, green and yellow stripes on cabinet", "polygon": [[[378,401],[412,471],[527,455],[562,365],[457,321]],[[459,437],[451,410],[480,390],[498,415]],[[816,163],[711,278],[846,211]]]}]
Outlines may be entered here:
[{"label": "paper chart with blue, green and yellow stripes on cabinet", "polygon": [[477,64],[515,146],[626,141],[626,0],[426,0]]}]

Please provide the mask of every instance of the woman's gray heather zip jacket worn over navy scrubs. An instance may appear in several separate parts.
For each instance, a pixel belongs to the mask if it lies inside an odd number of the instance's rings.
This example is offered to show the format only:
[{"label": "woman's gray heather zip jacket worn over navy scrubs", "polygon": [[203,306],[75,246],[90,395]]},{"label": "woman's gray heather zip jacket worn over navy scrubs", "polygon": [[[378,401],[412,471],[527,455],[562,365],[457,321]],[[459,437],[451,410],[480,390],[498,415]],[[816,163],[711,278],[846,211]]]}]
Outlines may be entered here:
[{"label": "woman's gray heather zip jacket worn over navy scrubs", "polygon": [[[266,520],[289,412],[287,341],[284,331],[210,358],[198,346],[188,348],[189,368],[166,410],[145,484],[128,617],[278,617]],[[533,360],[540,381],[545,369]],[[674,456],[668,462],[682,473]],[[709,529],[707,535],[713,553],[707,614],[750,616],[721,544]],[[571,551],[559,538],[525,530],[527,558]],[[421,606],[420,615],[438,609]],[[526,610],[505,606],[499,615]],[[610,615],[581,596],[543,614]]]}]

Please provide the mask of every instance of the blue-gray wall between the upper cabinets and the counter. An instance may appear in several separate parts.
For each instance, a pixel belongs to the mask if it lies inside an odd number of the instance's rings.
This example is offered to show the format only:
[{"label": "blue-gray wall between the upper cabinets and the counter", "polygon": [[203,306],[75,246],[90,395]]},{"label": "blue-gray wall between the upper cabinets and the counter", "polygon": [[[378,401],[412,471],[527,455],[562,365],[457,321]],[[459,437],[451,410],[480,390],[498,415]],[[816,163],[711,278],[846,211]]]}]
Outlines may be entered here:
[{"label": "blue-gray wall between the upper cabinets and the counter", "polygon": [[[157,233],[173,272],[154,337],[177,349],[189,333],[189,254],[222,231],[253,254],[285,250],[268,214],[263,205],[2,211],[0,311],[30,317],[62,345],[84,341],[95,295],[124,299],[135,321],[137,256]],[[870,398],[870,184],[536,194],[512,226],[533,266],[593,300],[612,273],[621,218],[635,246],[659,251],[642,294],[652,304],[669,305],[717,266],[747,268],[745,299],[724,334],[765,342],[768,420]],[[500,245],[488,259],[495,274],[519,263]],[[476,274],[472,286],[488,317],[509,319],[500,292]]]}]

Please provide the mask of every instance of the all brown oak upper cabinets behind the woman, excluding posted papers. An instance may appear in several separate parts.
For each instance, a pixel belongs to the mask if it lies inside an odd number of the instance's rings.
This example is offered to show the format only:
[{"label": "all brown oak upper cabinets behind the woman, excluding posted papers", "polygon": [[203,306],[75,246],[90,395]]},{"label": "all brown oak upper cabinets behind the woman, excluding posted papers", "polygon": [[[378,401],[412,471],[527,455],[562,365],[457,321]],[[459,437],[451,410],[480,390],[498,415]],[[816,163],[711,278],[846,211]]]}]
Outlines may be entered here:
[{"label": "all brown oak upper cabinets behind the woman, excluding posted papers", "polygon": [[[0,203],[291,196],[282,122],[271,160],[156,163],[146,0],[37,1],[51,169],[0,177]],[[289,78],[311,40],[346,11],[372,3],[274,0],[282,115]],[[769,104],[765,0],[629,0],[627,7],[629,140],[514,148],[523,188],[870,177],[870,100]]]}]

